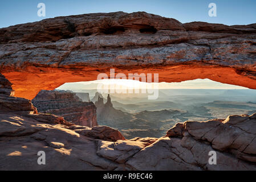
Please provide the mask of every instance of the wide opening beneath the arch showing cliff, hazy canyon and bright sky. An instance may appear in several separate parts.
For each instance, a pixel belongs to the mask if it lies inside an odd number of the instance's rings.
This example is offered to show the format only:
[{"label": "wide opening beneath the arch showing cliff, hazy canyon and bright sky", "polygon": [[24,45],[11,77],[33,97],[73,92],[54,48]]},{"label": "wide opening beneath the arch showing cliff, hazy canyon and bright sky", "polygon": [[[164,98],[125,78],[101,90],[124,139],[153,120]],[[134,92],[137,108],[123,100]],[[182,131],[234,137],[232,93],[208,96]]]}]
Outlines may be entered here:
[{"label": "wide opening beneath the arch showing cliff, hazy canyon and bright sky", "polygon": [[[156,97],[149,100],[149,96]],[[159,138],[177,122],[253,114],[256,90],[209,79],[155,85],[135,80],[96,80],[66,83],[54,91],[41,90],[32,103],[39,112],[61,115],[79,125],[113,127],[127,139]]]}]

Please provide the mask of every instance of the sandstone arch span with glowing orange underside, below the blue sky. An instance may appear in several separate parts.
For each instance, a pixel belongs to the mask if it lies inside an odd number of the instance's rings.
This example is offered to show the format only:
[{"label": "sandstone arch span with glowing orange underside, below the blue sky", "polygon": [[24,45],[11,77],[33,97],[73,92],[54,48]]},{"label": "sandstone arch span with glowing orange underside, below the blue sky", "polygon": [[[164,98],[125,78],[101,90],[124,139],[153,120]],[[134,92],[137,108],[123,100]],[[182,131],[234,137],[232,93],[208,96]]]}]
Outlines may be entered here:
[{"label": "sandstone arch span with glowing orange underside, below the blue sky", "polygon": [[15,96],[96,80],[99,73],[159,73],[256,89],[256,23],[180,23],[144,12],[60,16],[0,29],[0,72]]}]

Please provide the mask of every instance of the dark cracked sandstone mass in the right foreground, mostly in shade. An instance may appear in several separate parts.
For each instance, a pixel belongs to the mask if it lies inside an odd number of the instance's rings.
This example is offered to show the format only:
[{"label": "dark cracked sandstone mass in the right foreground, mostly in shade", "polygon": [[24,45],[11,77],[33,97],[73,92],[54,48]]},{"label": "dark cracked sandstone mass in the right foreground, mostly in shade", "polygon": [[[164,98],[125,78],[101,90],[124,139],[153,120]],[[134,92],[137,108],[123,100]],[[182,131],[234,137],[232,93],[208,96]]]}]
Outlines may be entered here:
[{"label": "dark cracked sandstone mass in the right foreground, mostly in shade", "polygon": [[[126,164],[137,170],[256,170],[255,115],[178,123]],[[208,163],[210,151],[216,151],[216,165]]]}]

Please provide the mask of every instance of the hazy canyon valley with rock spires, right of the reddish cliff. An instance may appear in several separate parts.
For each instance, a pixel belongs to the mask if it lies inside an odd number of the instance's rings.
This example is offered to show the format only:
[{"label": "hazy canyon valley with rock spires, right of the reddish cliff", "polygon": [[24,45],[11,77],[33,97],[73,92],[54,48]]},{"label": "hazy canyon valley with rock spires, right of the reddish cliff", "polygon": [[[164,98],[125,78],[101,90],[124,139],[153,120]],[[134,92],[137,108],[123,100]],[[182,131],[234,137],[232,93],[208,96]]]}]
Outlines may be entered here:
[{"label": "hazy canyon valley with rock spires, right of the reddish cliff", "polygon": [[104,105],[107,94],[103,94],[95,102],[97,123],[119,130],[127,139],[160,138],[178,122],[226,119],[229,115],[256,112],[256,92],[250,89],[160,89],[159,93],[155,101],[135,94],[111,94],[108,106]]}]

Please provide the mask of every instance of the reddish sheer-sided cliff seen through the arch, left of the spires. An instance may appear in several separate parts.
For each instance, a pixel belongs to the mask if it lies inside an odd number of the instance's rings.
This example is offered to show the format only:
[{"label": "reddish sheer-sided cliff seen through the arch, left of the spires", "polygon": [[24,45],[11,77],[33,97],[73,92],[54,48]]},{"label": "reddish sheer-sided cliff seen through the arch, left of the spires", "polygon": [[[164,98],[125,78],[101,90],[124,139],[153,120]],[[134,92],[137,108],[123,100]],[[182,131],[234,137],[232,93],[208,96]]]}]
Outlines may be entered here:
[{"label": "reddish sheer-sided cliff seen through the arch, left of the spires", "polygon": [[80,126],[97,126],[94,103],[82,102],[76,93],[41,90],[32,103],[40,113],[59,115],[66,121]]}]

